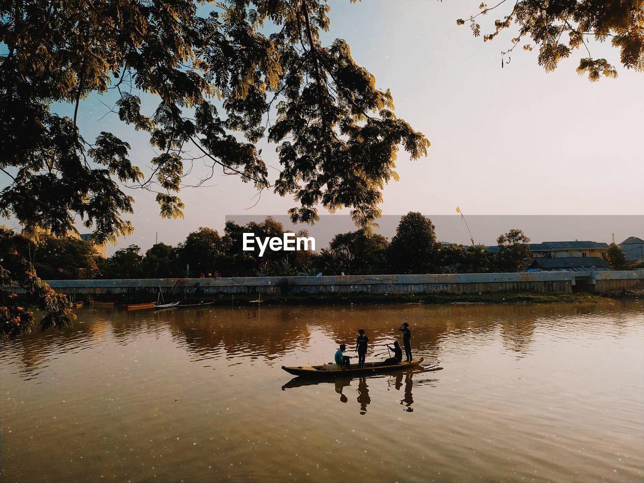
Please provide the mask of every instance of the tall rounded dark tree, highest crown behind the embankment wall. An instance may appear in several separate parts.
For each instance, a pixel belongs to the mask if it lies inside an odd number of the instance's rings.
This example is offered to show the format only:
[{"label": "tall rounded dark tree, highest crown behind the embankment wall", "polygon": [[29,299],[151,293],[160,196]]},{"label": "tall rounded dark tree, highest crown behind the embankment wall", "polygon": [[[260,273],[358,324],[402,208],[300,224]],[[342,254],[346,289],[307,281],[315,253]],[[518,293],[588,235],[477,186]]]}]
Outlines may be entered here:
[{"label": "tall rounded dark tree, highest crown behind the embankment wall", "polygon": [[431,220],[422,213],[410,211],[404,215],[387,249],[390,271],[399,274],[437,272],[440,248],[434,229]]}]

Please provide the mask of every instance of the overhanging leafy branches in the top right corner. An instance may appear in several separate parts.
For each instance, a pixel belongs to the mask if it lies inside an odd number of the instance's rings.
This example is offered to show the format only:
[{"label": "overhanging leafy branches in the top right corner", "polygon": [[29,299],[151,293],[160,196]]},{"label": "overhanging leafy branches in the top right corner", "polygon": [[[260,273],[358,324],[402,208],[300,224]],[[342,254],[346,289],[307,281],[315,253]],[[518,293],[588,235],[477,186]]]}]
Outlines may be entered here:
[{"label": "overhanging leafy branches in the top right corner", "polygon": [[[506,55],[509,62],[509,53],[529,38],[539,50],[539,65],[546,71],[554,70],[561,59],[583,47],[577,67],[580,75],[587,74],[593,82],[601,75],[617,77],[610,62],[592,57],[588,43],[591,37],[599,42],[610,37],[612,46],[620,50],[621,64],[627,69],[644,71],[644,0],[520,0],[514,4],[503,0],[491,7],[481,3],[477,14],[457,20],[457,24],[469,21],[472,33],[478,37],[481,33],[478,17],[498,7],[506,11],[502,17],[498,15],[494,28],[483,35],[483,40],[491,41],[516,26],[511,45],[501,52],[502,66]],[[533,45],[524,43],[523,48],[533,50]]]}]

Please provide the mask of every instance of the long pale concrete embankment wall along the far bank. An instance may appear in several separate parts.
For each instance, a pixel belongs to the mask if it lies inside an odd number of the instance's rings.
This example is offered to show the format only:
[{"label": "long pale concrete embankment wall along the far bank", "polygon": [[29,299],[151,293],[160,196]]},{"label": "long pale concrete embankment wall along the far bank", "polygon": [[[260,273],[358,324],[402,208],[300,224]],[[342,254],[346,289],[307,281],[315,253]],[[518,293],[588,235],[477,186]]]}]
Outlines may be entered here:
[{"label": "long pale concrete embankment wall along the far bank", "polygon": [[630,289],[644,284],[644,269],[611,272],[538,272],[444,275],[348,275],[322,277],[160,278],[130,280],[52,280],[67,294],[178,293],[295,294],[329,292],[477,293],[502,290],[573,292]]}]

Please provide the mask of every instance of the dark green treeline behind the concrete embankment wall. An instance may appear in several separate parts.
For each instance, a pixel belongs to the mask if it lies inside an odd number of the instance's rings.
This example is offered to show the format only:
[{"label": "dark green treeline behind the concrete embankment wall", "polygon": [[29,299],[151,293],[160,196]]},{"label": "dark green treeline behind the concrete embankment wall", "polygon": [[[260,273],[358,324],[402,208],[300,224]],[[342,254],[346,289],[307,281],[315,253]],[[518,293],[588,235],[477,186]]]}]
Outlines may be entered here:
[{"label": "dark green treeline behind the concrete embankment wall", "polygon": [[[43,279],[518,272],[530,260],[530,239],[518,229],[498,237],[496,252],[485,245],[442,245],[431,220],[417,212],[401,218],[391,241],[359,229],[337,234],[319,253],[267,250],[260,257],[258,251],[243,251],[245,232],[282,238],[285,230],[270,217],[247,225],[226,222],[223,235],[201,227],[176,247],[156,243],[142,254],[140,247],[129,245],[109,258],[100,257],[91,242],[78,238],[57,238],[43,232],[16,234],[6,227],[0,235],[5,242],[11,239],[11,245],[33,263]],[[612,245],[611,249],[615,252]],[[613,254],[612,258],[618,261],[619,257]]]}]

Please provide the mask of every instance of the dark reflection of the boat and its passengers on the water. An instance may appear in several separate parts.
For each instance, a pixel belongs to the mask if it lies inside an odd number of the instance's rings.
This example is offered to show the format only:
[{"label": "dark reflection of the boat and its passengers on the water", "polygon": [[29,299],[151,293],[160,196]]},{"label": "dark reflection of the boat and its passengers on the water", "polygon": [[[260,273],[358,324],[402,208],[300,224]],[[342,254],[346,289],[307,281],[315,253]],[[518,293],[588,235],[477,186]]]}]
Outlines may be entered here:
[{"label": "dark reflection of the boat and its passengers on the water", "polygon": [[[367,406],[371,403],[369,384],[377,386],[380,381],[382,381],[383,383],[386,381],[386,384],[388,386],[387,390],[390,390],[390,388],[393,387],[395,390],[399,391],[401,390],[401,388],[403,388],[404,385],[403,399],[401,399],[400,404],[404,406],[404,411],[411,413],[413,412],[412,389],[414,383],[417,385],[429,384],[433,386],[438,382],[438,379],[424,377],[423,374],[437,372],[440,370],[442,370],[442,367],[434,364],[421,368],[421,370],[416,368],[402,370],[397,372],[396,374],[374,375],[372,377],[328,377],[324,379],[310,379],[307,377],[298,376],[294,377],[288,383],[284,384],[282,386],[282,390],[285,391],[287,389],[301,388],[304,386],[317,386],[325,384],[328,384],[330,386],[331,384],[333,384],[336,393],[340,395],[339,401],[341,403],[347,403],[349,401],[348,392],[350,390],[347,390],[346,388],[351,386],[352,382],[357,381],[357,398],[355,400],[360,405],[359,413],[366,414]],[[367,381],[369,382],[369,384],[367,383]]]}]

